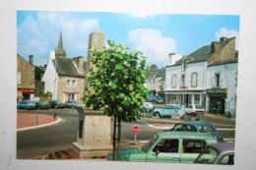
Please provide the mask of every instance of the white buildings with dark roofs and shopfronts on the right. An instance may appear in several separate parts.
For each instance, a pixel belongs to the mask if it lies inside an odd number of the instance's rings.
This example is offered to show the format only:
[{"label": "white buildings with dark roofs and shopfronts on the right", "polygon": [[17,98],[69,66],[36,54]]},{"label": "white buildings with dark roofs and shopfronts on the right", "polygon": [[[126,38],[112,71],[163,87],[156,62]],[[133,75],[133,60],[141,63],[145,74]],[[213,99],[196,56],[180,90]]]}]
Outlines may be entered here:
[{"label": "white buildings with dark roofs and shopfronts on the right", "polygon": [[237,63],[235,37],[222,37],[182,57],[166,67],[165,101],[201,104],[210,113],[235,111]]}]

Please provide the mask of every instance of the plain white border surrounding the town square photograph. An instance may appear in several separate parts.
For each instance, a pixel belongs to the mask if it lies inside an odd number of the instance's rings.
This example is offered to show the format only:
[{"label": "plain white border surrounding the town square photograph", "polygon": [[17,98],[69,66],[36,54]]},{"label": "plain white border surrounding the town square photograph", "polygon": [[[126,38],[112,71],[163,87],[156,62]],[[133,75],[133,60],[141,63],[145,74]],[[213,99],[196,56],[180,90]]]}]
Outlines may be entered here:
[{"label": "plain white border surrounding the town square photograph", "polygon": [[[252,0],[0,0],[0,169],[254,169],[256,151],[256,1]],[[16,159],[17,10],[239,15],[239,63],[234,166]],[[254,154],[253,154],[254,153]]]}]

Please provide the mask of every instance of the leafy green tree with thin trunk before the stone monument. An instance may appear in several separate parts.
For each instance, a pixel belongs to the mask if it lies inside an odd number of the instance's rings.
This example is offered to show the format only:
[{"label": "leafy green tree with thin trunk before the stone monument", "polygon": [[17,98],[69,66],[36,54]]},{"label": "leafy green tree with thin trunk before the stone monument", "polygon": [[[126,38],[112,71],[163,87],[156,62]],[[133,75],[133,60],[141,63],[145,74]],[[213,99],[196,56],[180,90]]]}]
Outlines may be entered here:
[{"label": "leafy green tree with thin trunk before the stone monument", "polygon": [[92,92],[86,87],[84,100],[88,107],[103,109],[108,116],[113,116],[113,160],[116,154],[120,159],[121,121],[132,122],[140,119],[142,105],[148,89],[146,82],[146,58],[139,51],[131,52],[130,48],[114,41],[107,41],[108,49],[92,49],[92,64],[88,79]]}]

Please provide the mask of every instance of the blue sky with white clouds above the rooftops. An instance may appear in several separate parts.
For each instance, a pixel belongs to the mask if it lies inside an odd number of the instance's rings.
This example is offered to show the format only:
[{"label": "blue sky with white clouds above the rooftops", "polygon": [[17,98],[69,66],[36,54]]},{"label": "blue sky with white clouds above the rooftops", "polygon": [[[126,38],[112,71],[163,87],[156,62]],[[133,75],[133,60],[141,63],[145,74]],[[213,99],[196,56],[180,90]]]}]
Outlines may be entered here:
[{"label": "blue sky with white clouds above the rooftops", "polygon": [[143,52],[147,64],[159,68],[169,65],[169,53],[180,59],[223,36],[236,36],[239,47],[239,16],[234,15],[18,11],[17,53],[26,60],[33,55],[34,65],[45,65],[61,31],[67,57],[87,60],[89,34],[96,30],[105,40]]}]

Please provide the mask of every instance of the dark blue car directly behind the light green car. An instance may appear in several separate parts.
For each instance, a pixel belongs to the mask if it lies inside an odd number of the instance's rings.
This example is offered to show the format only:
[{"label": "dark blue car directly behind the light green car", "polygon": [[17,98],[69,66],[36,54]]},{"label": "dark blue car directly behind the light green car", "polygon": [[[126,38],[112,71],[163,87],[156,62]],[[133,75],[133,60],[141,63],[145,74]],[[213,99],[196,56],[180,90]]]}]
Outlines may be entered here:
[{"label": "dark blue car directly behind the light green car", "polygon": [[174,132],[197,132],[212,135],[217,141],[223,142],[224,139],[217,128],[211,123],[205,122],[178,122],[170,131]]}]

